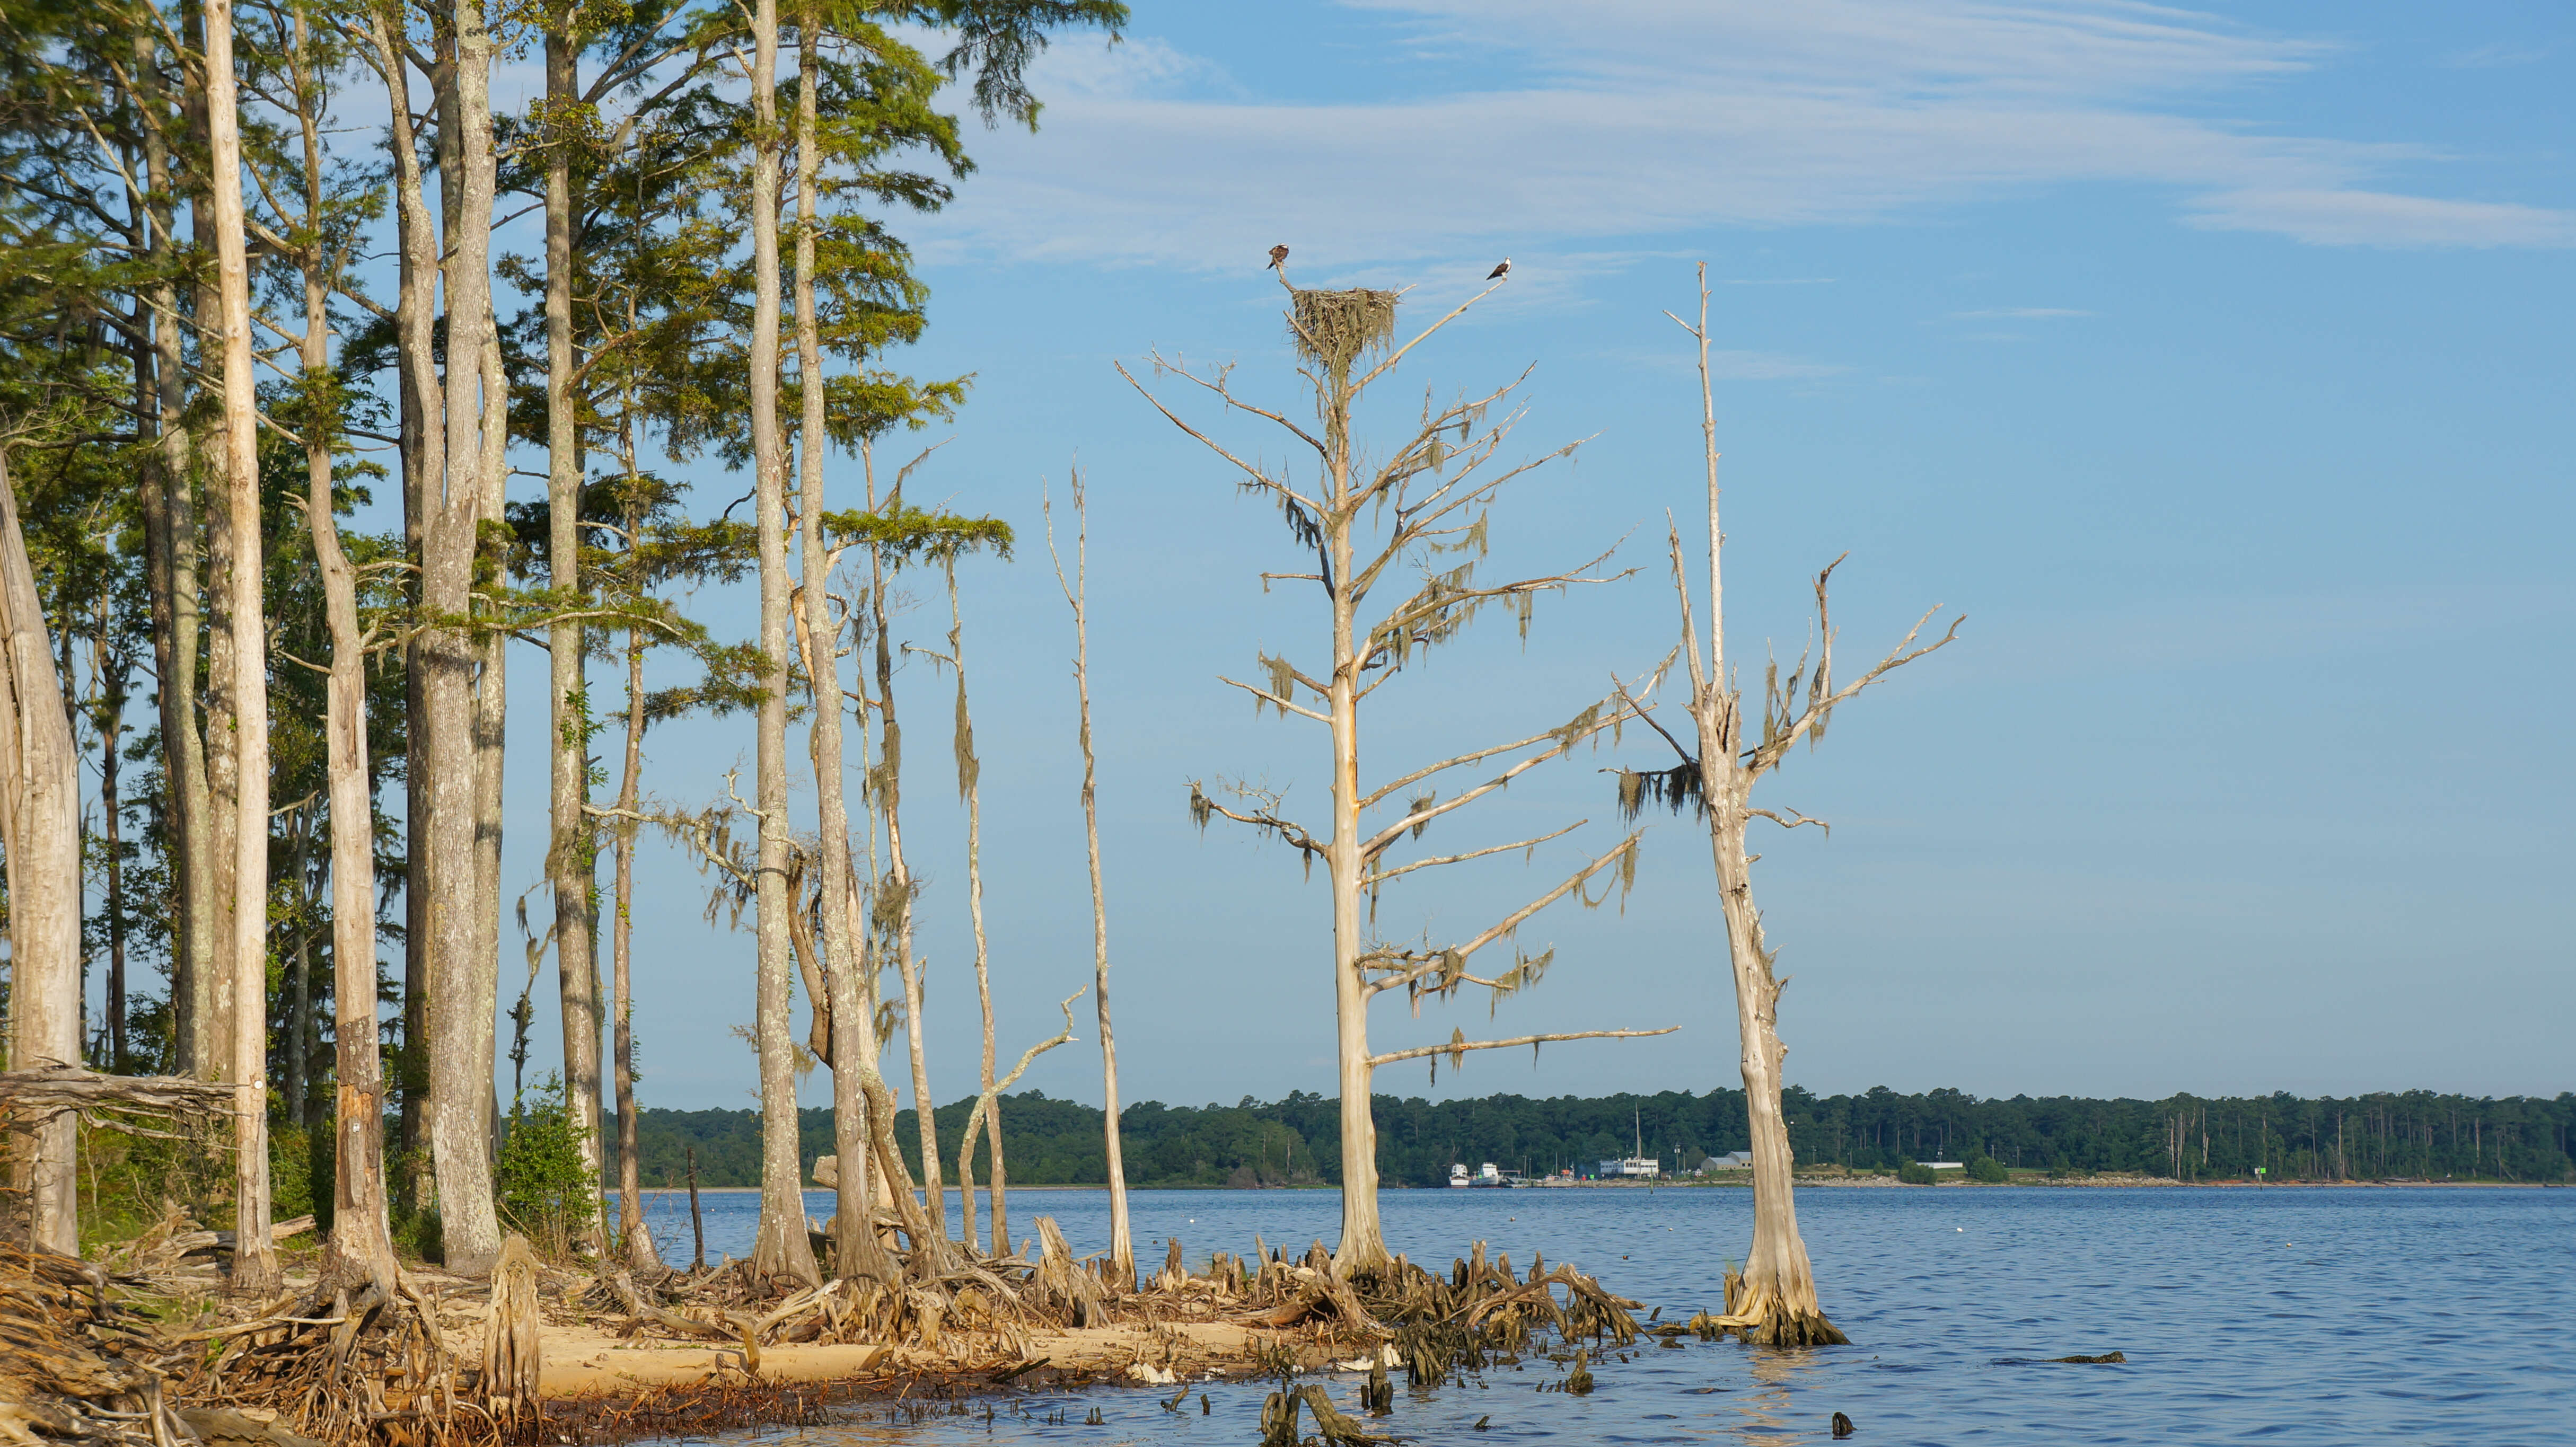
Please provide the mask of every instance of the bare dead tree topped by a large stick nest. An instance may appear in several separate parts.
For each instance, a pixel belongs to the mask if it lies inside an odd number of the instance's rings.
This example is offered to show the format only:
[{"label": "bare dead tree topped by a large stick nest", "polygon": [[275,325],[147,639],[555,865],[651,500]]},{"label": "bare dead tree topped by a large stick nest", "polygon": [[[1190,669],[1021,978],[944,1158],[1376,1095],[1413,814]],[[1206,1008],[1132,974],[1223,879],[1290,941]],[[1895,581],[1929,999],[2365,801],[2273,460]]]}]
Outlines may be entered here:
[{"label": "bare dead tree topped by a large stick nest", "polygon": [[[1445,1045],[1417,1050],[1368,1050],[1368,1004],[1388,991],[1404,991],[1419,1012],[1422,996],[1448,999],[1466,986],[1479,986],[1494,1002],[1535,984],[1553,950],[1528,955],[1515,948],[1512,963],[1489,973],[1471,973],[1481,950],[1510,942],[1517,929],[1540,909],[1571,896],[1592,904],[1584,886],[1615,870],[1625,883],[1636,870],[1636,834],[1628,834],[1607,852],[1587,860],[1564,883],[1548,888],[1530,904],[1515,909],[1492,927],[1453,940],[1448,945],[1399,945],[1381,940],[1373,927],[1378,893],[1401,875],[1481,860],[1504,852],[1528,857],[1538,845],[1582,826],[1577,819],[1564,829],[1551,829],[1533,839],[1463,850],[1455,855],[1396,863],[1399,845],[1422,839],[1443,816],[1507,788],[1515,778],[1543,762],[1558,760],[1584,739],[1613,729],[1631,716],[1631,705],[1615,695],[1584,705],[1556,729],[1540,729],[1525,739],[1486,744],[1448,760],[1406,770],[1386,783],[1363,788],[1360,783],[1360,705],[1381,687],[1422,662],[1432,649],[1455,641],[1492,605],[1507,605],[1520,615],[1528,636],[1530,610],[1540,595],[1564,592],[1574,584],[1610,582],[1589,569],[1607,561],[1602,554],[1577,569],[1522,577],[1510,582],[1484,582],[1479,566],[1486,554],[1489,512],[1504,487],[1520,476],[1564,458],[1574,443],[1533,461],[1502,466],[1494,456],[1520,420],[1520,407],[1507,399],[1528,378],[1512,378],[1492,391],[1458,397],[1435,407],[1427,397],[1409,438],[1370,463],[1360,456],[1350,435],[1350,415],[1370,384],[1396,371],[1417,345],[1448,327],[1468,306],[1492,296],[1502,283],[1492,283],[1461,301],[1445,317],[1425,327],[1414,340],[1388,350],[1396,330],[1394,291],[1298,291],[1288,283],[1288,335],[1303,358],[1301,376],[1314,389],[1316,430],[1309,430],[1285,412],[1273,412],[1239,399],[1226,368],[1206,373],[1154,355],[1157,373],[1180,378],[1211,391],[1226,415],[1244,412],[1285,430],[1301,448],[1314,453],[1316,469],[1309,479],[1288,469],[1270,469],[1229,451],[1208,433],[1182,422],[1154,391],[1139,384],[1126,366],[1118,368],[1157,412],[1175,427],[1213,451],[1242,479],[1244,492],[1278,505],[1296,546],[1314,556],[1314,572],[1265,572],[1270,582],[1309,582],[1324,602],[1329,623],[1327,659],[1314,672],[1301,669],[1285,654],[1260,654],[1262,685],[1221,682],[1252,695],[1255,711],[1275,708],[1280,718],[1291,713],[1321,724],[1332,742],[1332,816],[1324,829],[1311,829],[1280,814],[1283,798],[1249,783],[1218,780],[1218,793],[1234,803],[1218,803],[1193,780],[1190,814],[1206,826],[1213,816],[1249,824],[1298,852],[1311,868],[1324,865],[1332,891],[1332,981],[1340,1048],[1342,1092],[1342,1244],[1334,1254],[1334,1274],[1378,1274],[1391,1256],[1378,1226],[1378,1130],[1368,1112],[1370,1079],[1378,1066],[1396,1061],[1448,1056],[1450,1069],[1468,1050],[1494,1050],[1504,1045],[1540,1045],[1548,1040],[1602,1040],[1636,1035],[1669,1035],[1672,1030],[1574,1030],[1553,1035],[1520,1035],[1512,1040],[1468,1040],[1453,1030]],[[1363,360],[1373,360],[1358,371]],[[1352,376],[1358,371],[1358,376]],[[1499,420],[1486,420],[1497,404],[1507,404]],[[1378,613],[1365,613],[1368,597],[1396,577],[1409,579],[1404,595]],[[1618,574],[1625,577],[1625,574]],[[1489,765],[1492,778],[1455,785],[1450,798],[1440,798],[1453,770]],[[1401,811],[1399,811],[1401,806]]]}]

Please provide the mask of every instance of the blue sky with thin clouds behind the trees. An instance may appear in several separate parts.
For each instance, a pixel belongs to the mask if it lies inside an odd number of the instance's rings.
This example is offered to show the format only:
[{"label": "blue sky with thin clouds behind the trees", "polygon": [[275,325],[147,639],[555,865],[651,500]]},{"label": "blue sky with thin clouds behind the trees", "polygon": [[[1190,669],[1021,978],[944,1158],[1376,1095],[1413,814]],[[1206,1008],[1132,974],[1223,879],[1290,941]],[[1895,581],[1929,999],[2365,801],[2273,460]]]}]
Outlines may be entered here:
[{"label": "blue sky with thin clouds behind the trees", "polygon": [[[1216,682],[1255,649],[1314,657],[1321,615],[1255,579],[1293,566],[1275,512],[1110,371],[1236,363],[1296,409],[1262,270],[1285,242],[1301,286],[1412,286],[1417,322],[1512,255],[1376,435],[1425,386],[1535,363],[1515,448],[1589,440],[1497,512],[1494,566],[1625,538],[1643,569],[1386,690],[1381,778],[1551,726],[1672,646],[1659,536],[1698,507],[1698,386],[1659,312],[1692,304],[1698,260],[1736,654],[1795,654],[1806,579],[1844,551],[1844,659],[1929,605],[1968,615],[1765,785],[1834,821],[1757,845],[1793,1081],[2568,1089],[2571,64],[2576,26],[2540,5],[1141,0],[1126,44],[1061,44],[1043,129],[976,134],[958,201],[902,221],[933,286],[904,366],[976,373],[917,494],[1023,530],[966,577],[1005,1061],[1090,973],[1072,633],[1038,541],[1079,456],[1126,1097],[1332,1092],[1321,888],[1185,811],[1216,775],[1321,798],[1311,726]],[[703,499],[739,489],[701,469]],[[930,641],[945,610],[920,602]],[[747,595],[706,608],[750,628]],[[513,687],[510,893],[544,852],[541,667]],[[948,685],[899,687],[953,1099],[974,994]],[[1654,762],[1646,742],[1615,757]],[[657,796],[701,803],[750,731],[677,724],[649,754]],[[1473,929],[1615,842],[1607,762],[1455,816],[1450,847],[1589,824],[1388,896],[1381,927]],[[659,852],[649,1105],[750,1102],[750,935],[701,901]],[[1556,945],[1535,991],[1492,1022],[1381,1002],[1376,1040],[1680,1025],[1473,1058],[1437,1092],[1731,1084],[1713,929],[1705,847],[1656,821],[1625,906],[1522,932]],[[551,1035],[546,1009],[538,1061]],[[1097,1099],[1087,1012],[1025,1084]],[[1381,1089],[1432,1087],[1399,1066]]]}]

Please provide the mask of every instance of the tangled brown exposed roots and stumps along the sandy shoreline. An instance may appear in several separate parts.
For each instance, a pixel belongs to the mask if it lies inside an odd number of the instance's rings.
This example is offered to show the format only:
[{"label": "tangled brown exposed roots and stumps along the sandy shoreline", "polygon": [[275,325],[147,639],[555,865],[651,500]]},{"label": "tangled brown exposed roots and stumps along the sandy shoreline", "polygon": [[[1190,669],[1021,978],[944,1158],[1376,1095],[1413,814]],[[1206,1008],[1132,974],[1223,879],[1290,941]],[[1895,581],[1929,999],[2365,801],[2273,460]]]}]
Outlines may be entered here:
[{"label": "tangled brown exposed roots and stumps along the sandy shoreline", "polygon": [[[634,1437],[703,1437],[752,1421],[817,1421],[835,1396],[958,1396],[1002,1383],[1079,1385],[1170,1380],[1206,1367],[1182,1329],[1249,1329],[1231,1362],[1291,1375],[1329,1365],[1404,1367],[1417,1385],[1489,1359],[1517,1359],[1540,1339],[1625,1347],[1633,1300],[1569,1269],[1486,1259],[1476,1244],[1448,1274],[1396,1256],[1381,1272],[1337,1277],[1321,1249],[1291,1259],[1218,1251],[1190,1272],[1175,1246],[1144,1290],[1115,1282],[1103,1256],[1077,1259],[1054,1220],[1038,1220],[1036,1259],[976,1256],[956,1241],[933,1262],[896,1251],[899,1285],[835,1280],[806,1287],[750,1264],[670,1272],[636,1282],[616,1264],[598,1274],[546,1269],[523,1246],[502,1251],[492,1282],[399,1277],[379,1285],[309,1285],[278,1300],[222,1300],[167,1241],[121,1256],[129,1274],[62,1256],[0,1254],[0,1447],[562,1447]],[[515,1238],[513,1238],[515,1246]],[[149,1262],[155,1274],[131,1274]],[[129,1303],[149,1303],[152,1316]],[[155,1318],[157,1316],[157,1318]],[[696,1388],[636,1388],[613,1398],[541,1401],[538,1323],[623,1323],[629,1339],[696,1341],[739,1375]],[[1097,1357],[1025,1377],[1066,1329],[1118,1326],[1136,1359]],[[1244,1341],[1236,1336],[1236,1341]],[[858,1344],[832,1390],[762,1375],[762,1349]],[[21,1365],[33,1362],[33,1367]],[[945,1401],[943,1396],[943,1401]],[[1391,1396],[1391,1388],[1378,1393]],[[1368,1444],[1358,1419],[1298,1401],[1329,1442]],[[1293,1416],[1293,1408],[1291,1408]]]}]

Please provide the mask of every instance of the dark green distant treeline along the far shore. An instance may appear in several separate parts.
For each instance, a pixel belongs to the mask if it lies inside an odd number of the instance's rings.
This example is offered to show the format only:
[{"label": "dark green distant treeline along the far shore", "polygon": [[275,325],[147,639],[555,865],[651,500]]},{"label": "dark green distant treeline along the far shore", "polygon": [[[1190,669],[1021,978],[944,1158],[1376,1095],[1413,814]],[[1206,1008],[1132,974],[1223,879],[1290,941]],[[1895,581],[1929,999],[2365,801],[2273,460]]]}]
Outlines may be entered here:
[{"label": "dark green distant treeline along the far shore", "polygon": [[[2463,1094],[2293,1094],[2251,1099],[2076,1099],[2017,1094],[1976,1099],[1955,1089],[1783,1097],[1801,1164],[1893,1169],[1904,1161],[1994,1156],[2007,1166],[2138,1172],[2179,1179],[2576,1179],[2568,1143],[2576,1094],[2478,1099]],[[956,1151],[974,1102],[938,1112],[943,1156]],[[1432,1187],[1453,1161],[1494,1161],[1543,1174],[1628,1156],[1643,1133],[1664,1169],[1749,1146],[1744,1092],[1610,1094],[1597,1099],[1376,1097],[1378,1172],[1386,1184]],[[1265,1187],[1340,1184],[1340,1105],[1293,1092],[1288,1099],[1170,1107],[1131,1105],[1121,1115],[1128,1184]],[[832,1151],[832,1112],[804,1110],[804,1161]],[[920,1130],[902,1112],[896,1141],[920,1172]],[[752,1110],[644,1110],[636,1120],[641,1179],[680,1184],[685,1153],[698,1153],[698,1184],[760,1182],[760,1117]],[[1103,1184],[1100,1110],[1038,1092],[1002,1099],[1002,1159],[1012,1184]],[[981,1151],[976,1172],[981,1179]],[[943,1161],[956,1177],[956,1156]]]}]

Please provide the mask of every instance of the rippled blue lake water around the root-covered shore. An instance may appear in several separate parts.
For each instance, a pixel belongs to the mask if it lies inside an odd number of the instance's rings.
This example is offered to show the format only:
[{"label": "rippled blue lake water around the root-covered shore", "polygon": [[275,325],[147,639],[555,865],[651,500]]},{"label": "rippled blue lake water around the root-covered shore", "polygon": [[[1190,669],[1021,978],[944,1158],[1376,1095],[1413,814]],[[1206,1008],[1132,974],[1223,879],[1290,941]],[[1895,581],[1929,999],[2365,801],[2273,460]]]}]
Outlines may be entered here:
[{"label": "rippled blue lake water around the root-covered shore", "polygon": [[[809,1210],[832,1210],[809,1192]],[[1133,1192],[1136,1254],[1327,1244],[1332,1192]],[[706,1251],[744,1254],[757,1195],[706,1195]],[[951,1197],[951,1220],[956,1220]],[[1105,1192],[1015,1192],[1012,1228],[1054,1215],[1077,1251],[1108,1238]],[[1595,1272],[1664,1308],[1721,1305],[1752,1228],[1744,1190],[1386,1192],[1388,1246],[1445,1267],[1468,1241]],[[688,1197],[659,1195],[665,1256],[688,1259]],[[1406,1442],[2576,1442],[2576,1190],[1806,1190],[1798,1223],[1826,1313],[1855,1347],[1646,1344],[1595,1367],[1589,1398],[1538,1393],[1530,1359],[1399,1396]],[[2125,1367],[2014,1359],[2125,1352]],[[1332,1377],[1355,1411],[1358,1377]],[[1167,1414],[1149,1388],[1028,1393],[976,1416],[881,1414],[734,1447],[1252,1447],[1265,1385],[1206,1388]],[[1401,1377],[1399,1377],[1401,1393]],[[1069,1406],[1072,1424],[1038,1421]],[[1103,1408],[1105,1426],[1079,1426]],[[1473,1432],[1492,1416],[1486,1432]]]}]

